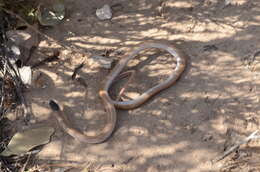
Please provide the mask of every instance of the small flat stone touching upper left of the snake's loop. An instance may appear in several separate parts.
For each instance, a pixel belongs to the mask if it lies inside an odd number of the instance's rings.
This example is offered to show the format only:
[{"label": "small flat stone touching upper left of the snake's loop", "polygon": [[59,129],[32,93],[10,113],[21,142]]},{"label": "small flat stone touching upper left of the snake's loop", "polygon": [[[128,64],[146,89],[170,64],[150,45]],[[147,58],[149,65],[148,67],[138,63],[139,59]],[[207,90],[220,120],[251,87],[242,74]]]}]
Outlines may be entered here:
[{"label": "small flat stone touching upper left of the snake's loop", "polygon": [[89,61],[91,67],[101,67],[105,69],[111,69],[113,63],[113,59],[109,59],[100,55],[92,56]]}]

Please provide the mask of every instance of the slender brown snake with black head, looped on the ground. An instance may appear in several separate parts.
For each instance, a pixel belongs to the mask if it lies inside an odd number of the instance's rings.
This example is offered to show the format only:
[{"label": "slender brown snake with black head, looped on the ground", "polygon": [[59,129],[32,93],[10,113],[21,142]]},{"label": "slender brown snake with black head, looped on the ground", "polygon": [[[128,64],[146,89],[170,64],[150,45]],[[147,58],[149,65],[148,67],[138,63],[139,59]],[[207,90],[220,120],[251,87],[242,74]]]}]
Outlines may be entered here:
[{"label": "slender brown snake with black head, looped on the ground", "polygon": [[[117,80],[117,78],[120,76],[120,73],[123,71],[124,67],[140,52],[150,48],[165,50],[176,58],[176,66],[173,72],[165,81],[162,81],[154,87],[149,88],[147,91],[145,91],[135,99],[127,101],[121,101],[118,99],[113,100],[109,95],[109,89],[111,88],[115,80]],[[175,84],[185,70],[187,57],[188,56],[184,53],[184,51],[177,48],[175,45],[162,42],[141,43],[136,48],[133,48],[132,51],[130,51],[130,54],[126,54],[124,57],[122,57],[122,59],[119,60],[119,62],[107,75],[99,91],[99,97],[106,111],[107,123],[104,128],[97,132],[97,134],[94,136],[86,135],[80,130],[72,127],[69,123],[69,120],[66,118],[66,115],[61,110],[59,104],[56,101],[50,100],[49,106],[52,109],[53,115],[57,119],[60,127],[74,139],[89,144],[102,143],[111,136],[115,129],[117,122],[116,108],[125,110],[137,108],[147,102],[151,97]]]}]

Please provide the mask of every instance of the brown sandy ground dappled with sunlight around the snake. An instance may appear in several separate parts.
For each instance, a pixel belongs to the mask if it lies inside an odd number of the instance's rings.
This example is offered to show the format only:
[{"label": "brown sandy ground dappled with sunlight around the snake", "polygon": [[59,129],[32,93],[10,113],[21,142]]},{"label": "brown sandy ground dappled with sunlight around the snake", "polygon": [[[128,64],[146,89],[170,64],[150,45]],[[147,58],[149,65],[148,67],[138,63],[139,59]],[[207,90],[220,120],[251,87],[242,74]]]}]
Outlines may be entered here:
[{"label": "brown sandy ground dappled with sunlight around the snake", "polygon": [[[253,55],[260,50],[260,1],[233,0],[225,8],[217,0],[65,3],[66,19],[44,32],[78,52],[61,50],[58,63],[37,69],[44,74],[46,88],[35,87],[28,93],[34,114],[30,122],[56,127],[40,158],[114,166],[124,172],[219,171],[223,163],[212,165],[210,160],[223,152],[228,131],[245,137],[259,128],[260,55]],[[95,9],[105,3],[120,5],[114,8],[112,20],[99,21]],[[187,53],[188,66],[178,83],[140,108],[118,110],[116,130],[102,144],[82,144],[65,134],[48,101],[63,105],[77,128],[88,134],[98,131],[106,114],[97,93],[109,70],[91,65],[90,56],[109,51],[108,58],[118,60],[147,40],[168,41]],[[52,51],[59,45],[42,39],[39,47]],[[79,76],[87,88],[70,80],[83,61],[86,65]],[[128,92],[136,95],[164,80],[174,59],[151,51],[133,60],[131,67],[138,72]],[[253,145],[247,149],[257,152],[258,142]]]}]

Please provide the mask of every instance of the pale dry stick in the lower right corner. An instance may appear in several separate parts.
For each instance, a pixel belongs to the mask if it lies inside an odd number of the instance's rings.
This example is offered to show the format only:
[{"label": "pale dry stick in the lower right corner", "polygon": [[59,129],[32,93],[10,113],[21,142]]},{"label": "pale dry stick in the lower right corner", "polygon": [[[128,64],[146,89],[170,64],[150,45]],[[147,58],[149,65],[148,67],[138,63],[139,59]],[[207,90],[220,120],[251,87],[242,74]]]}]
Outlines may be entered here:
[{"label": "pale dry stick in the lower right corner", "polygon": [[224,158],[226,158],[229,154],[231,154],[232,152],[236,151],[239,146],[241,146],[242,144],[248,143],[250,140],[252,139],[259,139],[260,136],[256,136],[256,134],[258,133],[259,130],[254,131],[252,134],[250,134],[248,137],[246,137],[245,139],[243,139],[242,141],[240,141],[239,143],[235,144],[234,146],[232,146],[231,148],[229,148],[228,150],[226,150],[223,155],[215,158],[214,160],[212,160],[212,163],[216,163]]}]

